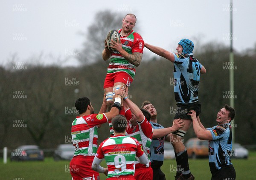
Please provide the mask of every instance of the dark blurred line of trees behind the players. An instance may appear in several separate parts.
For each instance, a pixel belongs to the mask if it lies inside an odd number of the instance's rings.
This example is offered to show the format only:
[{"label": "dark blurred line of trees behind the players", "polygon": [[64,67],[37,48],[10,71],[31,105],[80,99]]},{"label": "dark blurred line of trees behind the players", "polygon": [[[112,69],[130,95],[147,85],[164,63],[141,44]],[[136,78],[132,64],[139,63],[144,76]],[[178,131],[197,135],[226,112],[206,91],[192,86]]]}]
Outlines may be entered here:
[{"label": "dark blurred line of trees behind the players", "polygon": [[[229,49],[209,43],[195,57],[206,67],[201,75],[199,100],[200,119],[205,127],[216,125],[218,110],[235,100],[235,139],[241,144],[256,144],[255,135],[255,61],[256,48],[235,53],[229,63]],[[97,113],[103,100],[103,82],[108,61],[79,68],[16,64],[0,68],[0,148],[11,149],[23,144],[55,148],[71,143],[71,123],[78,115],[75,100],[87,96]],[[229,91],[229,71],[235,71],[235,91]],[[176,102],[174,98],[173,64],[161,57],[143,59],[129,87],[129,98],[141,106],[149,100],[157,109],[157,121],[172,126]],[[99,142],[108,137],[108,124],[99,129]],[[247,133],[250,132],[250,136]],[[243,135],[244,134],[244,135]],[[195,137],[192,128],[185,136]],[[246,138],[245,138],[246,137]]]}]

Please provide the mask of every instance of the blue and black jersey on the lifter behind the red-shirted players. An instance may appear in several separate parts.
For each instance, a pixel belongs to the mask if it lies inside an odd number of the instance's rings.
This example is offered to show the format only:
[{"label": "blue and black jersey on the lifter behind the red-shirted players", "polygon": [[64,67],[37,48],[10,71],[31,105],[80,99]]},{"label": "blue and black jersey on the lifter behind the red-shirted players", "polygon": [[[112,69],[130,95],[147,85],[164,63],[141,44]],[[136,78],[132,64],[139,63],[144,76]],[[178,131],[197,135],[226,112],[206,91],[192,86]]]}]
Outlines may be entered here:
[{"label": "blue and black jersey on the lifter behind the red-shirted players", "polygon": [[[153,129],[163,129],[164,127],[161,124],[154,123],[152,121],[149,121]],[[157,137],[152,139],[151,145],[150,145],[150,161],[151,161],[151,167],[160,167],[163,165],[163,145],[164,145],[164,137]]]}]

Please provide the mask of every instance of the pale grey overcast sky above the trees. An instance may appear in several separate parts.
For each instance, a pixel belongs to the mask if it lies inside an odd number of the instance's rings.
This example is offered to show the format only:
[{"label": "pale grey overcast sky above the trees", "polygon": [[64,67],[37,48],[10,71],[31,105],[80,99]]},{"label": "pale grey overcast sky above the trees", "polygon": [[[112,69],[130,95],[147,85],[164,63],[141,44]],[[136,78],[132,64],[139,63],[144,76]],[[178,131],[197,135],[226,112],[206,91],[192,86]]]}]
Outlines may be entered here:
[{"label": "pale grey overcast sky above the trees", "polygon": [[[105,9],[135,14],[144,41],[169,51],[175,51],[181,38],[230,43],[230,0],[1,0],[0,65],[9,65],[13,54],[19,62],[41,53],[75,57],[84,42],[79,32],[86,33],[95,13]],[[255,11],[255,0],[233,0],[236,51],[256,43]],[[70,60],[63,65],[78,63]]]}]

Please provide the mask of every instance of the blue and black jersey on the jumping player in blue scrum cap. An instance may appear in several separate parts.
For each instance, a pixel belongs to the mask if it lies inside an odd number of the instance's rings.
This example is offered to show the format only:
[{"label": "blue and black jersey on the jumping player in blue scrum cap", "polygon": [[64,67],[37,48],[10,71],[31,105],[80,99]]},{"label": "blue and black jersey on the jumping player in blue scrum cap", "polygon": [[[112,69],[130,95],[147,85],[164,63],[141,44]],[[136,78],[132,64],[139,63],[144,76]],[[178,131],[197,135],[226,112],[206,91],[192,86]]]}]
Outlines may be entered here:
[{"label": "blue and black jersey on the jumping player in blue scrum cap", "polygon": [[201,63],[192,56],[174,54],[174,94],[177,103],[198,101],[198,84],[200,81]]}]

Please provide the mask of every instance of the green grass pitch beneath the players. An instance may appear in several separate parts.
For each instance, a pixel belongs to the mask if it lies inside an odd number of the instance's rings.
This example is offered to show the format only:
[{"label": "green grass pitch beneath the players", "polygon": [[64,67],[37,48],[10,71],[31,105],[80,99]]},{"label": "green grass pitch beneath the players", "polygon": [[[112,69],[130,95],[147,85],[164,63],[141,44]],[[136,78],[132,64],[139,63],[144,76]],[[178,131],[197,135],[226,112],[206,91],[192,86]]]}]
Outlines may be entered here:
[{"label": "green grass pitch beneath the players", "polygon": [[[256,180],[256,152],[250,152],[247,160],[233,159],[232,163],[236,169],[236,180]],[[196,180],[211,179],[208,159],[189,159],[189,167]],[[166,174],[166,180],[173,180],[176,161],[165,160],[161,169]],[[106,179],[104,174],[100,177],[101,180]],[[8,161],[3,164],[3,159],[0,159],[0,180],[71,180],[69,161],[55,162],[46,158],[44,162]]]}]

